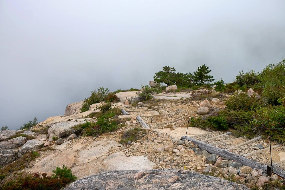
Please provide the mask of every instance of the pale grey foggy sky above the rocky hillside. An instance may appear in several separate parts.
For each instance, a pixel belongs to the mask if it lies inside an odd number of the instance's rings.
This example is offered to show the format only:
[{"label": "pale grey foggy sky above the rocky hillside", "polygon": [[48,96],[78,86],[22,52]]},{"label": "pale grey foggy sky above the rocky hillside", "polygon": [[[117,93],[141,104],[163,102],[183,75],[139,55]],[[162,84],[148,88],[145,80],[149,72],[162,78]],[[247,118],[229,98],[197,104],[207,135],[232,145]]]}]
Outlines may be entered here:
[{"label": "pale grey foggy sky above the rocky hillside", "polygon": [[285,57],[284,1],[0,0],[0,127],[63,115],[99,86],[140,88],[163,66],[216,80]]}]

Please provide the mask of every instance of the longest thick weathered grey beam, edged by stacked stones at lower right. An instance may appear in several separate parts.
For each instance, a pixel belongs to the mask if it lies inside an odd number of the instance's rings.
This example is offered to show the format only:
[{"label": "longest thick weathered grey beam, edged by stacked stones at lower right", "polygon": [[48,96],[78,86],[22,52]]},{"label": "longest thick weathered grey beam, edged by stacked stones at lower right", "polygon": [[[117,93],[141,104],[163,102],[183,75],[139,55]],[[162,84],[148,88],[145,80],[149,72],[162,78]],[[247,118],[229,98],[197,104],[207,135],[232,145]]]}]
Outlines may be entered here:
[{"label": "longest thick weathered grey beam, edged by stacked stones at lower right", "polygon": [[[197,144],[199,148],[206,150],[210,154],[217,154],[217,155],[222,156],[224,158],[228,158],[230,160],[237,161],[238,163],[241,163],[245,166],[262,169],[262,171],[264,171],[265,173],[267,172],[267,166],[265,164],[261,164],[259,162],[253,161],[249,158],[245,158],[241,155],[235,154],[233,152],[229,152],[227,150],[217,148],[215,146],[211,146],[209,144],[206,144],[205,142],[201,142],[201,141],[196,140],[196,139],[191,138],[191,137],[186,137],[186,136],[181,137],[181,140],[185,140],[185,139],[188,141],[191,140],[194,144]],[[285,175],[285,171],[283,169],[281,169],[280,167],[276,167],[276,166],[273,167],[273,172],[276,173],[277,175],[280,175],[280,176]]]}]

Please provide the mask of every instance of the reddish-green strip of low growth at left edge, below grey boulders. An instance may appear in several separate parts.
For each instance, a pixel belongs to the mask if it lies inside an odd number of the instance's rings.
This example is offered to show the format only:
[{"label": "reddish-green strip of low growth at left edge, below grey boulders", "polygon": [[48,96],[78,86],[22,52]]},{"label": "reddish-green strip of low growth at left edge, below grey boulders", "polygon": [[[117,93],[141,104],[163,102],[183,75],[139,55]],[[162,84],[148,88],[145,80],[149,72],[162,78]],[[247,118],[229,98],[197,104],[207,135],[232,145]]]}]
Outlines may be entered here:
[{"label": "reddish-green strip of low growth at left edge, below grey boulders", "polygon": [[28,166],[28,163],[31,160],[34,160],[38,158],[39,154],[36,151],[28,152],[24,154],[22,157],[18,158],[14,162],[11,162],[2,168],[0,168],[0,179],[1,181],[8,175],[11,175],[14,171],[19,171],[21,169],[24,169]]}]

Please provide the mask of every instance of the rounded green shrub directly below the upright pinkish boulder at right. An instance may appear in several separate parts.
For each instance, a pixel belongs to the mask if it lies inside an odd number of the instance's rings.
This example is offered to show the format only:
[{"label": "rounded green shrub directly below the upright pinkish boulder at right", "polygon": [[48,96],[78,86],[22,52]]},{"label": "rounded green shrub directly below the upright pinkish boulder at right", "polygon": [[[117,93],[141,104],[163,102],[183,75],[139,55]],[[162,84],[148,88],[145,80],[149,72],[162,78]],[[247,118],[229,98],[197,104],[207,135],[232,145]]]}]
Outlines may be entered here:
[{"label": "rounded green shrub directly below the upright pinkish boulder at right", "polygon": [[231,96],[225,101],[225,105],[227,106],[227,109],[231,110],[250,111],[255,110],[258,107],[264,107],[265,103],[262,99],[258,99],[255,96],[250,98],[247,94],[239,94]]}]

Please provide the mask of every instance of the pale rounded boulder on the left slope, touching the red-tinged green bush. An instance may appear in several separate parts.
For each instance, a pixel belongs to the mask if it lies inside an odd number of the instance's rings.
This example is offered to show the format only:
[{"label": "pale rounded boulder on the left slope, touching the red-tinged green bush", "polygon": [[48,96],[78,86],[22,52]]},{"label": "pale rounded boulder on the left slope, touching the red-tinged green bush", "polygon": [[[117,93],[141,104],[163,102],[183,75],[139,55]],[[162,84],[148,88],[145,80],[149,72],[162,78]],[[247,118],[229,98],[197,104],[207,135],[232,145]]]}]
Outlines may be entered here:
[{"label": "pale rounded boulder on the left slope, touching the red-tinged green bush", "polygon": [[64,137],[64,136],[69,136],[72,133],[72,126],[78,125],[81,123],[85,123],[86,121],[65,121],[65,122],[60,122],[52,125],[48,129],[48,140],[52,141],[52,137],[56,136],[58,138]]}]

